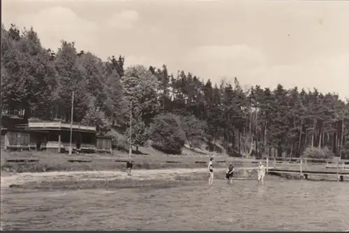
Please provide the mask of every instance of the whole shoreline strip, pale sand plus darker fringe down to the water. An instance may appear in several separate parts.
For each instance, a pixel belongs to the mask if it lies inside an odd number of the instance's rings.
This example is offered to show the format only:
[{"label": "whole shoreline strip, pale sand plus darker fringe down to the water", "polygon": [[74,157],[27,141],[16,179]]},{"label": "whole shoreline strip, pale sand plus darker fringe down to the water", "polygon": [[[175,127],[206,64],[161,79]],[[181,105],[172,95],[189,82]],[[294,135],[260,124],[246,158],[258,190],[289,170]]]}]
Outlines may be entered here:
[{"label": "whole shoreline strip, pale sand plus darker fringe down to the water", "polygon": [[[251,176],[255,167],[235,169],[235,179]],[[246,172],[244,172],[244,170]],[[216,168],[216,179],[225,178],[225,168]],[[208,179],[207,168],[167,168],[161,170],[133,170],[128,176],[125,171],[72,171],[72,172],[26,172],[1,176],[3,188],[73,188],[89,186],[114,186],[122,183],[149,183],[151,181],[193,181]],[[105,184],[107,183],[107,184]],[[154,183],[154,182],[153,182]],[[80,187],[80,188],[82,188]]]}]

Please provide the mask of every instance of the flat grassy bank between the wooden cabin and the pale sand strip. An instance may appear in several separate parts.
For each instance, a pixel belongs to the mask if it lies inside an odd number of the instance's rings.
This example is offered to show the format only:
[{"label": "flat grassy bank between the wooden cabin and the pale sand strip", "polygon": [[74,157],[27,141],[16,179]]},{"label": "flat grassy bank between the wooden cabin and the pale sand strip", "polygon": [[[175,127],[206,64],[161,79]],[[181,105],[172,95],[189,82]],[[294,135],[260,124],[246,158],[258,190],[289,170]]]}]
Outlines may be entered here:
[{"label": "flat grassy bank between the wooden cabin and the pale sand strip", "polygon": [[[36,160],[34,162],[8,162],[8,160]],[[125,153],[112,154],[74,154],[48,153],[44,151],[1,151],[1,172],[58,172],[58,171],[103,171],[125,170]],[[206,167],[209,156],[154,156],[133,155],[134,169],[196,168]],[[68,160],[75,160],[69,162]],[[80,160],[80,161],[79,161]],[[85,160],[85,161],[82,161]],[[227,167],[229,161],[224,156],[215,157],[215,167]],[[238,167],[240,164],[237,164]]]}]

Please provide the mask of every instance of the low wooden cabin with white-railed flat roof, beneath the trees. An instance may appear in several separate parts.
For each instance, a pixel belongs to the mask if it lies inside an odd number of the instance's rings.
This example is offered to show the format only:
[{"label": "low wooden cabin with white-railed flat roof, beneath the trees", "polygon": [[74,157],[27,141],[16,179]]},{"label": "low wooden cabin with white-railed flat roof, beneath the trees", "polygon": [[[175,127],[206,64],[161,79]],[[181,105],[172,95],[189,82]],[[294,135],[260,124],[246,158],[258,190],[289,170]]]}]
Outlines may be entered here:
[{"label": "low wooden cabin with white-railed flat roof, beneath the trees", "polygon": [[[72,149],[81,152],[112,152],[112,137],[97,135],[96,126],[72,125]],[[69,151],[70,123],[24,121],[20,115],[1,114],[1,148]]]}]

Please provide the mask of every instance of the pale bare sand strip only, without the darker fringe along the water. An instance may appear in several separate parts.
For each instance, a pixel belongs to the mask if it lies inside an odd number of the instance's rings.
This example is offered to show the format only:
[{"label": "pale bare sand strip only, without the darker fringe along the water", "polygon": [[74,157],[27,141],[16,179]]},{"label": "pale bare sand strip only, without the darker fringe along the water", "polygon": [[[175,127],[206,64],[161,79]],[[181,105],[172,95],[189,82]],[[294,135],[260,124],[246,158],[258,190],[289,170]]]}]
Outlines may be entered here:
[{"label": "pale bare sand strip only, without the darker fringe along the water", "polygon": [[[254,170],[256,167],[239,167],[235,170]],[[216,172],[223,172],[225,168],[216,168]],[[6,188],[10,184],[22,185],[27,182],[57,181],[57,180],[113,180],[113,179],[135,179],[172,180],[174,176],[186,174],[207,173],[207,168],[177,168],[163,170],[133,170],[132,176],[128,176],[123,171],[74,171],[74,172],[35,172],[18,173],[10,176],[1,176],[1,188]]]}]

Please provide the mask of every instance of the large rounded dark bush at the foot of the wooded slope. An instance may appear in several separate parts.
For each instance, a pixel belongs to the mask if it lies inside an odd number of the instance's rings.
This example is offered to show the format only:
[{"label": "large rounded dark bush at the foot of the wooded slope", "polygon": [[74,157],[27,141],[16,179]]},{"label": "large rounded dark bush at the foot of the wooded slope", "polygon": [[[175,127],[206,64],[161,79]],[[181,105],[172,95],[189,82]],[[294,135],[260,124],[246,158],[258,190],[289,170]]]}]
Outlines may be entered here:
[{"label": "large rounded dark bush at the foot of the wooded slope", "polygon": [[165,153],[180,154],[186,140],[179,120],[172,114],[156,116],[147,134],[152,146]]}]

